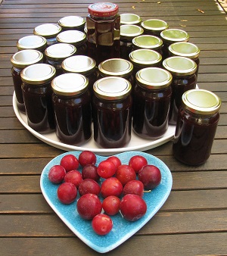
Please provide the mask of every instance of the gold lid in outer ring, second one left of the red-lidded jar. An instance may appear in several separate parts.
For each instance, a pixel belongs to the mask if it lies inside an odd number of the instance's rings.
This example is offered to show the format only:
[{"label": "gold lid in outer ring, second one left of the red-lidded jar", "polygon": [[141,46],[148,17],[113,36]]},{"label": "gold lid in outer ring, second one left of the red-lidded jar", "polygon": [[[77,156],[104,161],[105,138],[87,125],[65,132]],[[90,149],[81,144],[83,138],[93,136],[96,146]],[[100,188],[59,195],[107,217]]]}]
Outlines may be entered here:
[{"label": "gold lid in outer ring, second one left of the red-lidded jar", "polygon": [[61,27],[54,23],[44,23],[34,28],[33,33],[37,36],[51,38],[61,32]]}]

